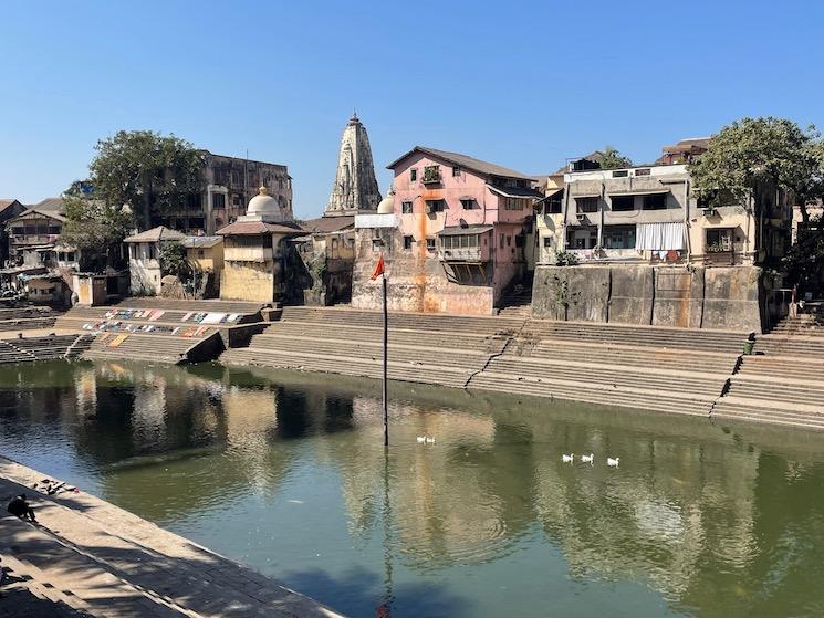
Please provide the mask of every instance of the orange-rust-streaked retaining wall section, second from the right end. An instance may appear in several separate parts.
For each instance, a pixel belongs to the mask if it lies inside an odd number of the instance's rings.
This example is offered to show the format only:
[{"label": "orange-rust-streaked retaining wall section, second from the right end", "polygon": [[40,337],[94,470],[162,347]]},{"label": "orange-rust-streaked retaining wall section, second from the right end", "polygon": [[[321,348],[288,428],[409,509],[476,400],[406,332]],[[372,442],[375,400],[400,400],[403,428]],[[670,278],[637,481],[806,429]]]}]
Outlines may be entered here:
[{"label": "orange-rust-streaked retaining wall section, second from the right end", "polygon": [[655,270],[655,326],[700,328],[705,269],[661,266]]}]

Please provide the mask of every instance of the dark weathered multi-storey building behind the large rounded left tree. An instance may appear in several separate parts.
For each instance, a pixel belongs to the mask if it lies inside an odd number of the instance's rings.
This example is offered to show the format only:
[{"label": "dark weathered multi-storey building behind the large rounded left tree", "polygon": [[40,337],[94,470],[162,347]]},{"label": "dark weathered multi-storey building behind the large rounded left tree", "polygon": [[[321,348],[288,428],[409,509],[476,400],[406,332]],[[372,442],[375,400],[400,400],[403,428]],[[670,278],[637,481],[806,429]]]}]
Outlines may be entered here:
[{"label": "dark weathered multi-storey building behind the large rounded left tree", "polygon": [[155,226],[188,234],[215,234],[246,212],[246,205],[261,186],[280,208],[292,209],[292,178],[286,166],[212,155],[207,150],[202,157],[202,190],[189,196],[184,208],[157,214]]}]

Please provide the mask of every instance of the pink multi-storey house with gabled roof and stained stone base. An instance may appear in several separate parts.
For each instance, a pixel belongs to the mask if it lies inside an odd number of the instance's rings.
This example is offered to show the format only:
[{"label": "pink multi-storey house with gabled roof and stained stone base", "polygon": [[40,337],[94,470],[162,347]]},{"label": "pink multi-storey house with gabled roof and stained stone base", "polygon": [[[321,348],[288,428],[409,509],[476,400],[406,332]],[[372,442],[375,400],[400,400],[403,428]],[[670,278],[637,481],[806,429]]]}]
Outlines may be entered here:
[{"label": "pink multi-storey house with gabled roof and stained stone base", "polygon": [[[395,172],[397,221],[390,242],[382,245],[389,263],[392,305],[405,311],[494,313],[508,285],[526,268],[532,202],[541,197],[532,188],[534,180],[423,146],[387,167]],[[353,304],[357,306],[358,298]]]}]

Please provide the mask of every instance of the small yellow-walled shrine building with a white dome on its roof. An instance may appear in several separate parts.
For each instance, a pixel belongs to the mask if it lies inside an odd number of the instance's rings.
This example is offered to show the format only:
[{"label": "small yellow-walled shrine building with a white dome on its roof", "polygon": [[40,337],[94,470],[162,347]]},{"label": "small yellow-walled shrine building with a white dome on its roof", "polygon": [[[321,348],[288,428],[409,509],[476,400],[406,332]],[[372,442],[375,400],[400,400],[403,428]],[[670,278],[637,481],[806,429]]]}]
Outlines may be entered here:
[{"label": "small yellow-walled shrine building with a white dome on its roof", "polygon": [[249,200],[247,213],[218,230],[223,237],[220,298],[272,303],[284,294],[286,239],[303,230],[291,202],[270,196],[265,187]]}]

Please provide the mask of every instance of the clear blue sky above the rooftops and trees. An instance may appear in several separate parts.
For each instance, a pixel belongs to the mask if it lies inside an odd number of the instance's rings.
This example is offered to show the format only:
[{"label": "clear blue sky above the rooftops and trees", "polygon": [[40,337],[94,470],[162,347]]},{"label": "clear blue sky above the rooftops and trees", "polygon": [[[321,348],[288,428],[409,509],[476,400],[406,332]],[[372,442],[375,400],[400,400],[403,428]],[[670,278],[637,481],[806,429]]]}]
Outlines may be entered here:
[{"label": "clear blue sky above the rooftops and trees", "polygon": [[744,115],[824,128],[824,2],[18,1],[0,8],[0,197],[174,133],[289,166],[317,216],[353,108],[384,166],[421,144],[529,174],[636,161]]}]

